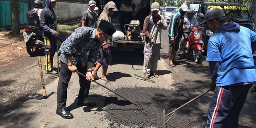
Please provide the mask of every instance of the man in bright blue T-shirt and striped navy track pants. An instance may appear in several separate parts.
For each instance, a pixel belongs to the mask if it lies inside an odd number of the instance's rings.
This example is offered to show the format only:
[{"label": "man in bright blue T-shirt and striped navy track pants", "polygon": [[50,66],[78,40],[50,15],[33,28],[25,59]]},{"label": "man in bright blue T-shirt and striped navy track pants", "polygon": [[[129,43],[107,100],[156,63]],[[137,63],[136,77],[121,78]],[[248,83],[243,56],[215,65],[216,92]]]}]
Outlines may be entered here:
[{"label": "man in bright blue T-shirt and striped navy track pants", "polygon": [[221,9],[211,9],[205,20],[214,33],[208,41],[206,60],[212,75],[212,96],[206,128],[238,128],[238,117],[247,93],[256,82],[251,44],[256,33],[235,22],[227,22]]}]

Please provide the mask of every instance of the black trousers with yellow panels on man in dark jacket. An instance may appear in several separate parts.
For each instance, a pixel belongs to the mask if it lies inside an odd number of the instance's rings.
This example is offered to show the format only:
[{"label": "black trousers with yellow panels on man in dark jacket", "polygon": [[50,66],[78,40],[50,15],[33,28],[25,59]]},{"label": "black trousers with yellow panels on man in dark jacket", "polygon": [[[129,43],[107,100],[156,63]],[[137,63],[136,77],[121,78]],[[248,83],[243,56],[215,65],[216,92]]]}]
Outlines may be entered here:
[{"label": "black trousers with yellow panels on man in dark jacket", "polygon": [[53,68],[53,57],[56,51],[56,38],[45,39],[46,71],[51,72]]}]

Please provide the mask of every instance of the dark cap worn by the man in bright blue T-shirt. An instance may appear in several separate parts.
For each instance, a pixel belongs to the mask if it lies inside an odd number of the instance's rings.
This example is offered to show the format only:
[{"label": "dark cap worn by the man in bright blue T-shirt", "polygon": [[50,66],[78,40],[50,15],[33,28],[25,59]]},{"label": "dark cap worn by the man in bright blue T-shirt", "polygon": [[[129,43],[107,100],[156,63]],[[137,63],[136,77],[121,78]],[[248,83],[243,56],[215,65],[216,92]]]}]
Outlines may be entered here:
[{"label": "dark cap worn by the man in bright blue T-shirt", "polygon": [[205,24],[207,21],[209,21],[210,19],[214,19],[214,18],[221,18],[221,17],[225,17],[225,13],[223,10],[221,9],[210,9],[207,13],[206,16],[204,18],[204,21],[201,22],[202,24]]}]

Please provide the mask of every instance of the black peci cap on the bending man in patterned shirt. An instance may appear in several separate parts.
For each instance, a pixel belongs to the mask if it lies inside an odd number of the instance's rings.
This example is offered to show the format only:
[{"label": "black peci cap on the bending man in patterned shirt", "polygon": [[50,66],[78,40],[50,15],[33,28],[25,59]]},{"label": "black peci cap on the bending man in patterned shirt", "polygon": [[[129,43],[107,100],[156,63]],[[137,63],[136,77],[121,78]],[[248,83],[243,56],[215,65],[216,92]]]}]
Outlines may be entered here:
[{"label": "black peci cap on the bending man in patterned shirt", "polygon": [[103,19],[101,19],[99,28],[103,33],[108,34],[109,36],[112,36],[117,31],[116,28],[110,24],[110,22]]}]

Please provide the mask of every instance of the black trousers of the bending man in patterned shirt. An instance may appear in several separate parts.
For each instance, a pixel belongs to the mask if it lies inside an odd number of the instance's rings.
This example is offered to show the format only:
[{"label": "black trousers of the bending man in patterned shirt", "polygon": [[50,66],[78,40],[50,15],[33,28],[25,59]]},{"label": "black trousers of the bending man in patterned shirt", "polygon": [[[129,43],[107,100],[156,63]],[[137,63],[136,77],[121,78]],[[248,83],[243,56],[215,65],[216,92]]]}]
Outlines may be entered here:
[{"label": "black trousers of the bending man in patterned shirt", "polygon": [[[76,64],[76,67],[80,73],[84,75],[86,74],[87,65],[82,67],[81,62],[79,61]],[[71,75],[72,72],[69,71],[68,65],[61,62],[60,77],[57,88],[57,109],[64,109],[66,107],[67,88]],[[79,84],[80,90],[78,94],[78,102],[83,102],[88,98],[91,82],[88,82],[84,76],[79,75]]]}]

